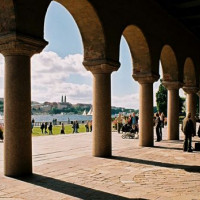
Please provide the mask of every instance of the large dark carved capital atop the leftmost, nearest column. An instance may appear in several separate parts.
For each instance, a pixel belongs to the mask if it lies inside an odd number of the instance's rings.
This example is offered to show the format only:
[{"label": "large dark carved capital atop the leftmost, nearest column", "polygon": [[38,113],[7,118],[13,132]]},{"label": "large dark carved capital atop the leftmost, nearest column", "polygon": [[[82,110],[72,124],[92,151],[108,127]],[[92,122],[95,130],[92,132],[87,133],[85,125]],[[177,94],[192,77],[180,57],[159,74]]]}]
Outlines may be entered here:
[{"label": "large dark carved capital atop the leftmost, nearest column", "polygon": [[0,53],[8,55],[32,56],[40,53],[48,44],[45,40],[27,37],[18,34],[9,34],[0,37]]}]

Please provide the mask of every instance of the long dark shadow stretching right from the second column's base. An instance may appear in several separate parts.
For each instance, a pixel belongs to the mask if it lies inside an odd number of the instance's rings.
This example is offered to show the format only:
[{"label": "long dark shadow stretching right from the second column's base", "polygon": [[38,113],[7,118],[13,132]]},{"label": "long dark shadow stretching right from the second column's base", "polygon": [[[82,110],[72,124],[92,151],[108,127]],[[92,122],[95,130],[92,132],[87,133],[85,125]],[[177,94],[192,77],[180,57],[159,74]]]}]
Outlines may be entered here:
[{"label": "long dark shadow stretching right from the second column's base", "polygon": [[157,166],[157,167],[183,169],[187,172],[200,173],[200,166],[197,166],[197,165],[191,166],[191,165],[171,164],[171,163],[163,163],[163,162],[158,162],[158,161],[143,160],[143,159],[138,159],[138,158],[126,158],[126,157],[121,157],[121,156],[113,156],[113,157],[111,157],[111,159],[132,162],[132,163],[145,164],[145,165],[152,165],[152,166]]}]

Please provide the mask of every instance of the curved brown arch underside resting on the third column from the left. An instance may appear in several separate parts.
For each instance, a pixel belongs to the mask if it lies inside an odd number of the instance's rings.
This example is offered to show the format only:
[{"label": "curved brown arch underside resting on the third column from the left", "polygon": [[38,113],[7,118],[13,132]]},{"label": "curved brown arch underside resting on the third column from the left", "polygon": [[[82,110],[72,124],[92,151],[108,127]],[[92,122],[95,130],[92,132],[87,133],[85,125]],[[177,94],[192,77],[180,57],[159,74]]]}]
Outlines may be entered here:
[{"label": "curved brown arch underside resting on the third column from the left", "polygon": [[135,25],[129,25],[124,29],[123,35],[132,55],[133,74],[151,73],[149,45],[142,30]]}]

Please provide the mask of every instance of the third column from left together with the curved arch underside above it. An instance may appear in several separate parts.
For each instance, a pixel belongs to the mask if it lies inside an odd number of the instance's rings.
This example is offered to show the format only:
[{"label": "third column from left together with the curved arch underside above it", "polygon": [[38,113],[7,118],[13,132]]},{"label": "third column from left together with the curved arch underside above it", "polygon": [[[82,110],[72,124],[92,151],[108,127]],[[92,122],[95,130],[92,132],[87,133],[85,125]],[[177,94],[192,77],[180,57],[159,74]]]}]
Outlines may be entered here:
[{"label": "third column from left together with the curved arch underside above it", "polygon": [[158,76],[152,68],[151,51],[142,30],[130,25],[124,29],[123,35],[132,56],[132,76],[140,83],[139,145],[153,146],[153,82]]}]

